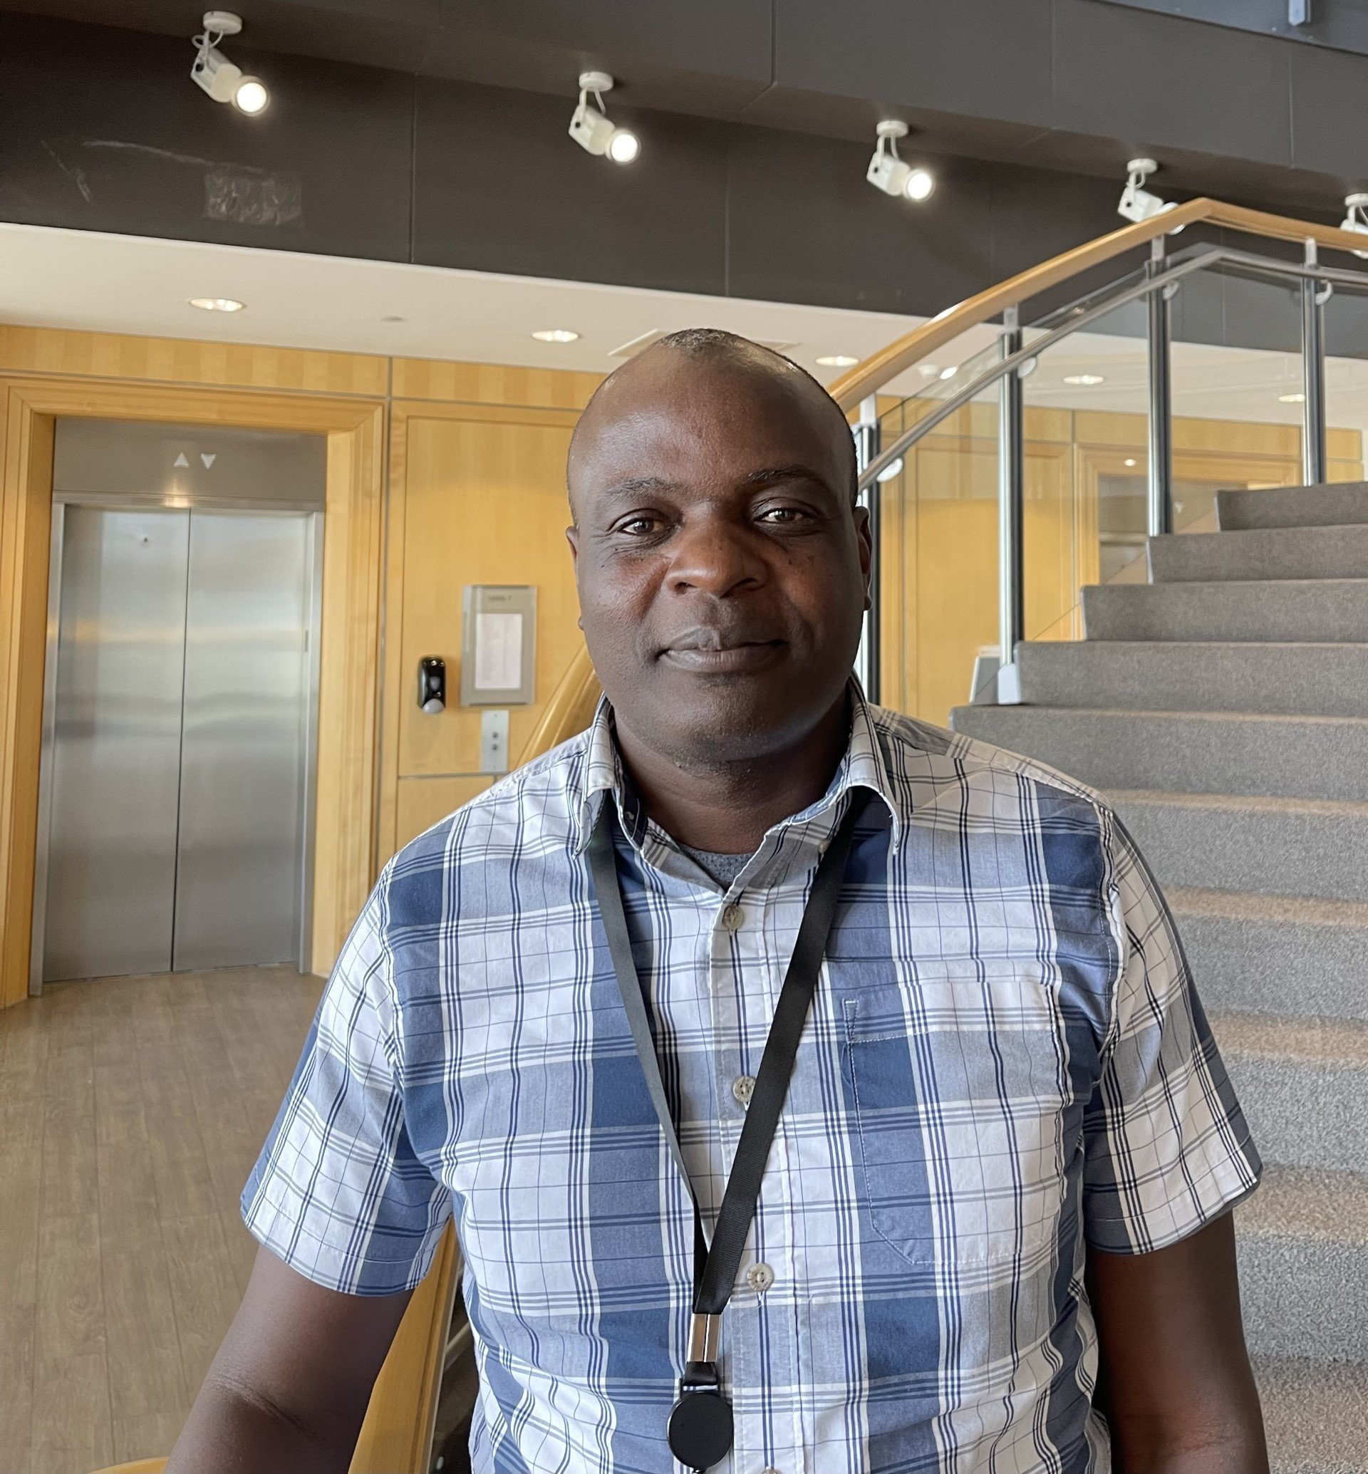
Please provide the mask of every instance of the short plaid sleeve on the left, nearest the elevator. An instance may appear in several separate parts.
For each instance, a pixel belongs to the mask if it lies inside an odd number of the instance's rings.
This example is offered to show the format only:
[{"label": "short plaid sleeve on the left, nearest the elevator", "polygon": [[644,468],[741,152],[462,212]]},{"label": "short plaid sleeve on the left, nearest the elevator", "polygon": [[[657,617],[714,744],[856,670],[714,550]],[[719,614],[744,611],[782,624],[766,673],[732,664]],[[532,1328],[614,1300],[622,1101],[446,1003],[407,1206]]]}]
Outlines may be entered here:
[{"label": "short plaid sleeve on the left, nearest the elevator", "polygon": [[377,1296],[419,1284],[451,1216],[404,1125],[385,886],[338,958],[242,1192],[243,1222],[292,1269]]}]

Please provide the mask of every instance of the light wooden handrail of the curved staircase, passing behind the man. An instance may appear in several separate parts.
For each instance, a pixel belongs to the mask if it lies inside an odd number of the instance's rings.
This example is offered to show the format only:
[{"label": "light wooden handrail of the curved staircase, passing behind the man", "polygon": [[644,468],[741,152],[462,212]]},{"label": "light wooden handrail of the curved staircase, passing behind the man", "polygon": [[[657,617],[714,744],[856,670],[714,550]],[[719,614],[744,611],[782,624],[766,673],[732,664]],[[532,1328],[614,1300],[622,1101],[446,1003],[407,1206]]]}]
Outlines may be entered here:
[{"label": "light wooden handrail of the curved staircase, passing behind the man", "polygon": [[[1103,265],[1184,226],[1198,223],[1271,240],[1313,240],[1331,251],[1364,249],[1362,236],[1336,226],[1290,220],[1215,199],[1193,199],[1153,220],[1123,226],[1097,240],[1075,246],[938,312],[930,321],[840,374],[830,386],[831,397],[849,413],[861,399],[877,394],[890,379],[970,327],[997,317],[1004,308],[1019,307],[1092,267]],[[557,743],[582,731],[594,715],[598,696],[598,680],[588,650],[581,646],[551,693],[519,765],[540,758]],[[456,1299],[458,1257],[456,1234],[448,1228],[427,1278],[408,1303],[389,1356],[376,1378],[351,1474],[426,1474],[441,1390],[442,1353]],[[116,1470],[105,1470],[102,1474],[161,1474],[165,1462],[165,1459],[143,1459],[121,1464]]]}]

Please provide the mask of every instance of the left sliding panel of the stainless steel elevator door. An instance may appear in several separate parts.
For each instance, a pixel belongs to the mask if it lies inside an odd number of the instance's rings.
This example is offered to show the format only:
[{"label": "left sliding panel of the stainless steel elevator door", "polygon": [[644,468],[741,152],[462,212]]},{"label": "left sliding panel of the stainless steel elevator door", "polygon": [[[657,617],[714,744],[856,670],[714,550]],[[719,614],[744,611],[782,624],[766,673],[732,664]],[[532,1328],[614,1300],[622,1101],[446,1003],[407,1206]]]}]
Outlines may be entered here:
[{"label": "left sliding panel of the stainless steel elevator door", "polygon": [[55,513],[65,516],[43,977],[165,971],[190,514]]}]

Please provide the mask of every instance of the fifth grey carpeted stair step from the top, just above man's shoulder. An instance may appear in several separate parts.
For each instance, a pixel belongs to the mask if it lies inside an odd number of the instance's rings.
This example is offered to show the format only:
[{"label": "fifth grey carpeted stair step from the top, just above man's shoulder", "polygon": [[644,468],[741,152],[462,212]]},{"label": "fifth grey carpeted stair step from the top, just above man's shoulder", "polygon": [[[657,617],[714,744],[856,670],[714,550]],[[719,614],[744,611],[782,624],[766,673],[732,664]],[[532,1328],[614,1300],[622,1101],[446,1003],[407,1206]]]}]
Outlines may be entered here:
[{"label": "fifth grey carpeted stair step from the top, just above man's shoulder", "polygon": [[1368,719],[958,706],[957,733],[1094,789],[1282,794],[1368,803]]}]

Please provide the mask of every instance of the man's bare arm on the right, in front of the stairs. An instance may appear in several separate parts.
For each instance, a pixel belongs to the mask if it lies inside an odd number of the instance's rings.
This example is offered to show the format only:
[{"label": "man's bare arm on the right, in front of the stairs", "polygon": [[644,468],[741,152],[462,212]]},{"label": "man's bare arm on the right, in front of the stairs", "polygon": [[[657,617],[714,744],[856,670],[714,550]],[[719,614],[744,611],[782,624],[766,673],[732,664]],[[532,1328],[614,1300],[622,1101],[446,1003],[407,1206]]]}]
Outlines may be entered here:
[{"label": "man's bare arm on the right, in front of the stairs", "polygon": [[1266,1474],[1229,1213],[1151,1254],[1088,1254],[1116,1474]]}]

